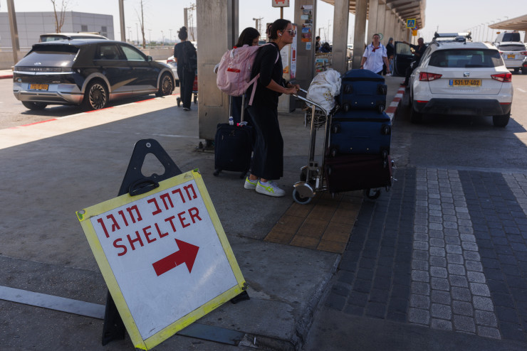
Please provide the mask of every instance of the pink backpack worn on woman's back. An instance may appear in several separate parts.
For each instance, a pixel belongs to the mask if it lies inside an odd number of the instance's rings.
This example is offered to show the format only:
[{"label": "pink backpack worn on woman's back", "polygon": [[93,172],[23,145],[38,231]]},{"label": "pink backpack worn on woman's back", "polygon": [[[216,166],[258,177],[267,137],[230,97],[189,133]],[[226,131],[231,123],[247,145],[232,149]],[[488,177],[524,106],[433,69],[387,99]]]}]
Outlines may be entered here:
[{"label": "pink backpack worn on woman's back", "polygon": [[[270,43],[264,45],[268,44]],[[249,105],[253,103],[254,92],[256,92],[256,80],[258,80],[260,74],[251,80],[251,70],[259,48],[261,46],[244,45],[241,48],[235,47],[224,53],[219,62],[218,76],[216,77],[216,85],[219,90],[227,95],[236,97],[243,95],[247,88],[254,83]],[[279,57],[280,53],[277,53],[274,63],[278,61]]]}]

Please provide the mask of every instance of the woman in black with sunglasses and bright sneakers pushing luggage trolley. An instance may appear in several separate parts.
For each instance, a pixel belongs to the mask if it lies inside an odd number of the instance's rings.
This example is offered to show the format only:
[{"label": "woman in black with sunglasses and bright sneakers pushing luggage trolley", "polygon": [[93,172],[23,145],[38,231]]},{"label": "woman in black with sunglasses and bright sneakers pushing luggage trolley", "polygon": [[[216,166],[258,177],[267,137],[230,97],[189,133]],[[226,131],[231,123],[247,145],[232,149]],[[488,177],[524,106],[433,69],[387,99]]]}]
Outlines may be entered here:
[{"label": "woman in black with sunglasses and bright sneakers pushing luggage trolley", "polygon": [[[291,21],[278,19],[271,25],[267,36],[271,44],[261,46],[251,72],[251,79],[260,75],[256,81],[254,100],[248,108],[256,132],[256,144],[251,174],[246,178],[244,188],[280,197],[286,192],[271,181],[281,178],[283,173],[283,139],[278,124],[278,97],[281,94],[294,94],[300,86],[283,80],[279,53],[284,46],[293,43],[296,32],[293,31]],[[251,97],[253,89],[254,85],[249,87],[247,97]]]}]

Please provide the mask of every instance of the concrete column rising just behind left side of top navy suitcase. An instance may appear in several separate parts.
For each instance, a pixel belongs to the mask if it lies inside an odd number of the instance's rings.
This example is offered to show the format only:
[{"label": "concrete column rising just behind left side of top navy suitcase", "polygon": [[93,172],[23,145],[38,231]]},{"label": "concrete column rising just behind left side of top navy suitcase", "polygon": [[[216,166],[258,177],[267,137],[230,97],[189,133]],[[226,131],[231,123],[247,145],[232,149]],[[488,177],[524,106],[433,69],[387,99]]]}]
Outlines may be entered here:
[{"label": "concrete column rising just behind left side of top navy suitcase", "polygon": [[348,52],[348,21],[350,0],[336,0],[333,12],[333,52],[332,68],[341,74],[346,72]]}]

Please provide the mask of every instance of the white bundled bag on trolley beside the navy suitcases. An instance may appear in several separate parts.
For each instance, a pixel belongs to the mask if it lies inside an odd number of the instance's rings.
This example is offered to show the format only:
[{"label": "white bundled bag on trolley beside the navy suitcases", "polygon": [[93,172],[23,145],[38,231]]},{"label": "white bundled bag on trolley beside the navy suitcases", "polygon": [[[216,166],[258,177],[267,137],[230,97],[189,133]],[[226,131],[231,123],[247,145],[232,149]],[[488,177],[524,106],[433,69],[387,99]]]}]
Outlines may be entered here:
[{"label": "white bundled bag on trolley beside the navy suitcases", "polygon": [[315,75],[309,85],[307,99],[319,104],[326,113],[335,107],[335,96],[340,92],[340,73],[328,68]]}]

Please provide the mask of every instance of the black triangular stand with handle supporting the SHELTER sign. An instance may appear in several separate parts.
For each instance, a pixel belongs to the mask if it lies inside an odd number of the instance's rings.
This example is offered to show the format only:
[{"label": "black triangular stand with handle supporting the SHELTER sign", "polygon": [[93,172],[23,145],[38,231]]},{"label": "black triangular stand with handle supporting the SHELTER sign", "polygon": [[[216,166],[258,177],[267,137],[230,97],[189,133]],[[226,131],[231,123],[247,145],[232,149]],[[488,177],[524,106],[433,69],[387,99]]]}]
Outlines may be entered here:
[{"label": "black triangular stand with handle supporting the SHELTER sign", "polygon": [[[145,163],[147,154],[152,153],[157,160],[165,167],[165,173],[157,175],[153,173],[150,176],[142,174],[141,169]],[[159,187],[159,182],[181,174],[182,171],[168,156],[167,151],[155,139],[141,139],[137,141],[126,169],[125,178],[122,179],[121,188],[118,196],[130,194],[131,196],[148,193]],[[125,323],[115,306],[110,291],[106,297],[106,309],[103,325],[103,345],[113,340],[122,340],[125,338]]]}]

